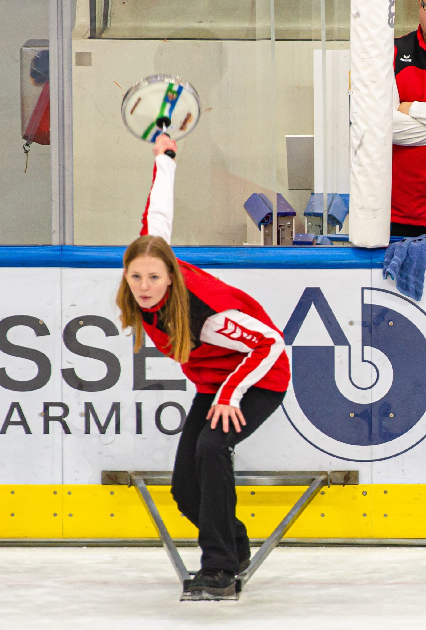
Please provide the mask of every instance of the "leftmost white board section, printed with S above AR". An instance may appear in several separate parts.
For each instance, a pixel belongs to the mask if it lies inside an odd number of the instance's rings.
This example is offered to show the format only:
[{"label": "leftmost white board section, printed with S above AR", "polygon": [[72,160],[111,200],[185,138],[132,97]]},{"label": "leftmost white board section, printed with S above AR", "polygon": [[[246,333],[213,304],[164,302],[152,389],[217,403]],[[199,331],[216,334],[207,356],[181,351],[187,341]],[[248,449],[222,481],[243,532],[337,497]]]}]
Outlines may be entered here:
[{"label": "leftmost white board section, printed with S above AR", "polygon": [[[49,358],[52,375],[35,391],[13,391],[0,387],[0,430],[11,406],[18,402],[30,427],[26,434],[20,426],[10,426],[0,435],[1,483],[62,483],[62,428],[50,423],[43,434],[43,402],[60,402],[60,270],[46,268],[0,268],[0,319],[30,316],[42,321],[49,335],[36,336],[28,326],[14,326],[8,340],[18,346],[34,348]],[[11,357],[0,351],[0,367],[11,379],[29,381],[37,376],[33,361]],[[52,408],[51,415],[60,410]],[[11,421],[19,421],[16,411]]]}]

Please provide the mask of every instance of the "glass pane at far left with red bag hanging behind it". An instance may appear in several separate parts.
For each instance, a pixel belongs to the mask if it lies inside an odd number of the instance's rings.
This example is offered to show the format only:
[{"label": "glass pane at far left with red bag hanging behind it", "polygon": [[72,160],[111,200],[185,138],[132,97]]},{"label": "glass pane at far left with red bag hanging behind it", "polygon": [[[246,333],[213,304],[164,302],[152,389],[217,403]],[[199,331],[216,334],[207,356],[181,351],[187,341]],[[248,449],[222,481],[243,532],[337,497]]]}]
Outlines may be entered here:
[{"label": "glass pane at far left with red bag hanging behind it", "polygon": [[0,244],[49,244],[49,0],[7,10],[0,43]]}]

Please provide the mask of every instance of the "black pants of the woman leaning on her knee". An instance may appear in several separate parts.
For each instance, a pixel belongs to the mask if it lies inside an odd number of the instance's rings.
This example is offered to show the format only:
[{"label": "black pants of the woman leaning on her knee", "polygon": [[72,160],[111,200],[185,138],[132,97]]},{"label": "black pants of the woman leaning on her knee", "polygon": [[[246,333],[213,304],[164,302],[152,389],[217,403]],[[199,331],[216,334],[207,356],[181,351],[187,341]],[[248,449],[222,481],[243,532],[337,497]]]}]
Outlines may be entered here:
[{"label": "black pants of the woman leaning on her knee", "polygon": [[180,512],[199,528],[203,568],[236,574],[241,560],[249,556],[246,527],[235,516],[231,454],[280,406],[284,394],[250,387],[241,399],[246,420],[241,433],[234,428],[224,433],[222,420],[216,429],[210,428],[206,416],[214,394],[197,394],[193,399],[176,452],[171,493]]}]

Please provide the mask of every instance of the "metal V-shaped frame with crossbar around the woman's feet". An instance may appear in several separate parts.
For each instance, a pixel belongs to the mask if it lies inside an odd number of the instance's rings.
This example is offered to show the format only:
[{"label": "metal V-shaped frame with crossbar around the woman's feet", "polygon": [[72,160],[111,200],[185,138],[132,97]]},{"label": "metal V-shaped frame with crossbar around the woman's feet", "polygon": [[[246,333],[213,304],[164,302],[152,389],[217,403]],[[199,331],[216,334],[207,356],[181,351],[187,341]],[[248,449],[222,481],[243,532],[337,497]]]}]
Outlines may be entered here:
[{"label": "metal V-shaped frame with crossbar around the woman's feet", "polygon": [[263,561],[279,544],[284,534],[296,522],[297,518],[308,507],[313,498],[320,492],[323,486],[330,485],[357,485],[358,471],[323,471],[323,472],[252,472],[237,471],[235,473],[236,485],[244,486],[309,486],[302,496],[296,501],[291,510],[283,518],[272,534],[263,542],[255,556],[251,559],[248,568],[236,576],[235,594],[227,597],[209,595],[205,592],[190,592],[188,585],[195,571],[188,571],[180,557],[175,542],[171,538],[163,518],[153,501],[147,486],[170,486],[170,472],[144,472],[144,471],[102,471],[102,484],[134,486],[139,498],[141,498],[146,511],[151,518],[158,537],[166,550],[171,564],[183,586],[181,601],[183,600],[236,600],[239,599],[241,590],[251,576],[258,570]]}]

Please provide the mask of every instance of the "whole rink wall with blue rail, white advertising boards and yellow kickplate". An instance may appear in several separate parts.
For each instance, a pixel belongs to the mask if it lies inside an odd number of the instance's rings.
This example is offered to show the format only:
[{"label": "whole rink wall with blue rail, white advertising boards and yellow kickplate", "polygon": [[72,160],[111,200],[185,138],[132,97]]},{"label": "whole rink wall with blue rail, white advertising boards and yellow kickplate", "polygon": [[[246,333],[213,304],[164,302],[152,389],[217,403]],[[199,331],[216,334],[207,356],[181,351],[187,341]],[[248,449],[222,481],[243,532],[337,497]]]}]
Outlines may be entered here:
[{"label": "whole rink wall with blue rail, white advertising boards and yellow kickplate", "polygon": [[[124,248],[0,248],[0,538],[150,539],[133,488],[102,470],[171,470],[194,389],[120,329]],[[381,277],[384,250],[175,248],[249,292],[284,331],[282,408],[238,445],[238,470],[359,471],[331,486],[291,538],[426,538],[426,299]],[[303,488],[238,488],[264,538]],[[197,536],[153,488],[176,538]]]}]

